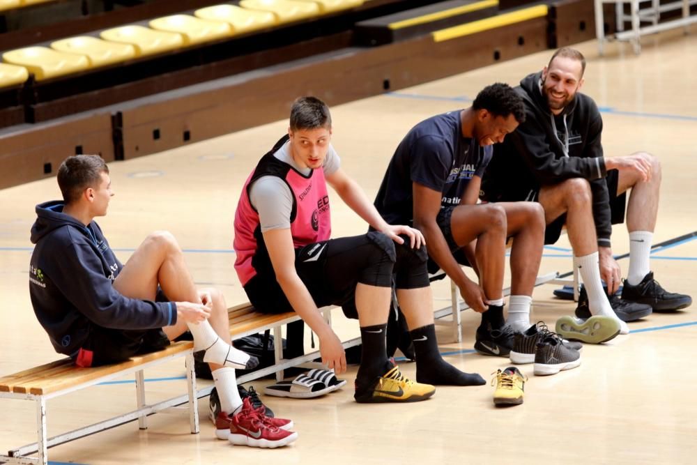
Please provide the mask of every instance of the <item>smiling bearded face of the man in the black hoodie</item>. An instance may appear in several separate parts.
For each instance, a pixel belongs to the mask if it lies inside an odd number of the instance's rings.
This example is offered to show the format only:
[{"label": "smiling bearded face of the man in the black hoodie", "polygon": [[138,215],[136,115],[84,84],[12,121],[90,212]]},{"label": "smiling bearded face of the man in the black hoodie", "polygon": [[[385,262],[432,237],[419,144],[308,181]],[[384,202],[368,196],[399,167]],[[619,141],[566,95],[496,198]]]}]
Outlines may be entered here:
[{"label": "smiling bearded face of the man in the black hoodie", "polygon": [[542,95],[553,114],[560,114],[583,85],[581,61],[557,56],[542,70]]}]

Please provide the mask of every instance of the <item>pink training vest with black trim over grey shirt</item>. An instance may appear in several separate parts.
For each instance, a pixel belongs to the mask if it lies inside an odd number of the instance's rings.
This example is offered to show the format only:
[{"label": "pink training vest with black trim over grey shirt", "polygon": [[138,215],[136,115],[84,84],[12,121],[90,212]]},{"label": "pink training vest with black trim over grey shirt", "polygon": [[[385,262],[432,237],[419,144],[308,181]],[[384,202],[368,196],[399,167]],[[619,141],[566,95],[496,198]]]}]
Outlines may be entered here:
[{"label": "pink training vest with black trim over grey shirt", "polygon": [[[285,139],[285,138],[284,138]],[[233,248],[237,254],[235,270],[243,286],[256,275],[259,265],[273,270],[268,259],[268,252],[263,250],[263,257],[268,263],[259,264],[254,261],[254,256],[259,250],[266,249],[261,236],[259,214],[250,204],[249,190],[252,181],[261,176],[279,176],[291,188],[294,197],[293,211],[291,213],[291,236],[293,247],[326,241],[332,233],[331,216],[329,209],[329,196],[327,183],[324,179],[322,168],[313,169],[309,177],[302,176],[291,165],[278,160],[273,153],[282,145],[284,139],[267,153],[256,165],[250,177],[247,178],[235,212],[235,238]],[[277,148],[278,147],[278,148]],[[254,263],[253,263],[254,262]]]}]

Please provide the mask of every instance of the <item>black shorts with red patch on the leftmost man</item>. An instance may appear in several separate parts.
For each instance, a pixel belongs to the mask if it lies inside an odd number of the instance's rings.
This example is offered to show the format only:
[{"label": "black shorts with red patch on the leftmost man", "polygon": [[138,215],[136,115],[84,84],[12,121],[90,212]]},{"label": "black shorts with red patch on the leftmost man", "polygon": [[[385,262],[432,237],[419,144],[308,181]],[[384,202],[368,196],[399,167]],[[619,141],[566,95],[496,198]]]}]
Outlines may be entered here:
[{"label": "black shorts with red patch on the leftmost man", "polygon": [[162,328],[122,330],[91,324],[87,340],[75,356],[75,365],[98,367],[123,362],[132,356],[159,351],[167,346],[169,339]]}]

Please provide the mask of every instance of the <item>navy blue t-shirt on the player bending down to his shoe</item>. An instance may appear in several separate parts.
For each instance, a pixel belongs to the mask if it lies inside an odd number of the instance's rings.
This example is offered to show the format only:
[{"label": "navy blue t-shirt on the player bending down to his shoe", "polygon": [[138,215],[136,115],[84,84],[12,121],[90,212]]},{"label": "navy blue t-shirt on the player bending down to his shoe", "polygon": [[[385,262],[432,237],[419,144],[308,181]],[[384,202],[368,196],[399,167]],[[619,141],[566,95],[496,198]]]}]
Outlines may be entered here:
[{"label": "navy blue t-shirt on the player bending down to his shoe", "polygon": [[386,222],[413,224],[413,182],[442,192],[443,208],[459,204],[472,176],[482,177],[492,148],[462,136],[460,112],[418,123],[397,146],[375,199]]}]

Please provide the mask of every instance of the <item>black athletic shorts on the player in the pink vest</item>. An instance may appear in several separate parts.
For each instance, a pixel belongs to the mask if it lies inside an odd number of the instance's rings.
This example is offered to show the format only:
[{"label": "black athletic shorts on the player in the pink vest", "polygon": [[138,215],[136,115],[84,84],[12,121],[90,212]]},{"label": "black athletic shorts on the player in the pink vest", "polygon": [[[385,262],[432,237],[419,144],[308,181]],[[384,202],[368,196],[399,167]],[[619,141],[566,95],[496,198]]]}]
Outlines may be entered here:
[{"label": "black athletic shorts on the player in the pink vest", "polygon": [[[370,232],[305,245],[296,249],[296,271],[317,307],[342,305],[353,298],[358,282],[392,285],[393,244],[384,234]],[[273,273],[254,275],[245,292],[258,312],[293,311]]]}]

